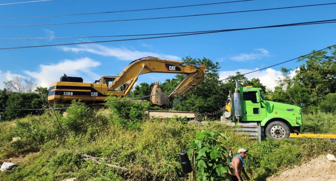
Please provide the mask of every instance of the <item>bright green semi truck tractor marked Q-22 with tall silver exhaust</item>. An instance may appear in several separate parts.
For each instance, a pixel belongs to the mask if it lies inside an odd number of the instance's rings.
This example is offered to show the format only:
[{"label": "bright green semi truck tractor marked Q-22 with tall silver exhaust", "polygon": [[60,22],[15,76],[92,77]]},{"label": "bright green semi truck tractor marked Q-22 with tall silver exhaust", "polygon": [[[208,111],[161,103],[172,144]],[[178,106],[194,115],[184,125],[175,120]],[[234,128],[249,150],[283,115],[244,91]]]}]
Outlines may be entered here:
[{"label": "bright green semi truck tractor marked Q-22 with tall silver exhaust", "polygon": [[294,105],[267,101],[261,88],[239,87],[228,96],[222,120],[237,123],[257,123],[267,137],[288,138],[290,133],[299,134],[302,126],[301,108]]}]

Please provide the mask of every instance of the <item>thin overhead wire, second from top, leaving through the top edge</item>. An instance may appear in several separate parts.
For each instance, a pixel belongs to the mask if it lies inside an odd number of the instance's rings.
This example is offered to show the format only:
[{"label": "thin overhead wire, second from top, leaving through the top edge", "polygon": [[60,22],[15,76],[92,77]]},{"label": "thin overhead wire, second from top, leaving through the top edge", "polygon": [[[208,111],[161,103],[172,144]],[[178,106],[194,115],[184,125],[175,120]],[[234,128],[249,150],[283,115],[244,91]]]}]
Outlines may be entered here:
[{"label": "thin overhead wire, second from top, leaving through the top edge", "polygon": [[61,14],[61,15],[47,15],[47,16],[29,16],[29,17],[0,18],[0,20],[5,20],[5,19],[23,19],[23,18],[43,18],[43,17],[60,17],[60,16],[77,16],[77,15],[89,15],[89,14],[106,14],[106,13],[132,12],[132,11],[148,11],[148,10],[156,10],[156,9],[171,9],[171,8],[192,7],[192,6],[205,6],[205,5],[226,4],[226,3],[235,3],[235,2],[244,2],[244,1],[255,1],[255,0],[227,1],[227,2],[207,3],[207,4],[194,4],[194,5],[185,5],[185,6],[172,6],[172,7],[160,7],[160,8],[148,8],[148,9],[120,10],[120,11],[107,11],[107,12],[94,12],[94,13],[78,13],[78,14]]}]

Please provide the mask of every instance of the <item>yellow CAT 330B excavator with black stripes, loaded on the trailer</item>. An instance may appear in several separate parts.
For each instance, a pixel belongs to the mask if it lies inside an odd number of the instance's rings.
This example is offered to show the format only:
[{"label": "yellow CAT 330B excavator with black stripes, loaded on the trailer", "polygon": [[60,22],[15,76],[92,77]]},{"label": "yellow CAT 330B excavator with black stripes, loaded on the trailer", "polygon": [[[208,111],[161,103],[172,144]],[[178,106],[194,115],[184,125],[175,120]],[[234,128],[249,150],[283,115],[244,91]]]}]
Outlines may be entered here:
[{"label": "yellow CAT 330B excavator with black stripes, loaded on the trailer", "polygon": [[[183,63],[181,61],[145,57],[132,61],[118,76],[101,76],[94,83],[84,83],[81,77],[61,76],[59,82],[49,87],[48,102],[51,104],[70,104],[72,100],[87,103],[102,103],[107,96],[126,96],[138,76],[145,73],[187,74],[182,82],[168,96],[163,94],[159,82],[150,86],[150,101],[154,106],[172,107],[195,86],[199,85],[205,74],[205,65]],[[180,96],[180,97],[179,97]],[[179,97],[177,101],[172,101]]]}]

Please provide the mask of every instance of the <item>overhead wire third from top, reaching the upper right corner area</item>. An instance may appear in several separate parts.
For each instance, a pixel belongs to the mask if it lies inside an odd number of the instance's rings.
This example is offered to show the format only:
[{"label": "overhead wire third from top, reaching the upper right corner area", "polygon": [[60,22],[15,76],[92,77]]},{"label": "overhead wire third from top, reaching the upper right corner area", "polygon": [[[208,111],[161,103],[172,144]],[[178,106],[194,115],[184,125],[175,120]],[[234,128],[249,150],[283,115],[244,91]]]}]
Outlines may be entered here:
[{"label": "overhead wire third from top, reaching the upper right corner area", "polygon": [[314,4],[314,5],[303,5],[303,6],[291,6],[291,7],[269,8],[269,9],[255,9],[255,10],[244,10],[244,11],[231,11],[231,12],[221,12],[221,13],[192,14],[192,15],[181,15],[181,16],[166,16],[166,17],[154,17],[154,18],[116,19],[116,20],[103,20],[103,21],[81,21],[81,22],[41,23],[41,24],[12,24],[12,25],[1,25],[0,27],[41,26],[41,25],[60,25],[60,24],[83,24],[83,23],[102,23],[102,22],[120,22],[120,21],[138,21],[138,20],[152,20],[152,19],[167,19],[167,18],[195,17],[195,16],[207,16],[207,15],[229,14],[229,13],[241,13],[241,12],[254,12],[254,11],[276,10],[276,9],[288,9],[288,8],[298,8],[298,7],[308,7],[308,6],[321,6],[321,5],[331,5],[331,4],[336,4],[336,3]]}]

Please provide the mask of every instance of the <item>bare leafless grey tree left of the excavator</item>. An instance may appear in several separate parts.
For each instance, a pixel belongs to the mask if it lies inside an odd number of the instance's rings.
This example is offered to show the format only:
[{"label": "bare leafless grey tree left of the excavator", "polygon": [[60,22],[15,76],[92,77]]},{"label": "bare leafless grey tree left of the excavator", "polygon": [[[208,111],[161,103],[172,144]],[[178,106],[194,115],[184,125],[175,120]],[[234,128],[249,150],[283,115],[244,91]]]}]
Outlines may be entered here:
[{"label": "bare leafless grey tree left of the excavator", "polygon": [[12,80],[3,83],[7,91],[15,93],[32,93],[37,86],[34,79],[21,76],[14,76]]}]

